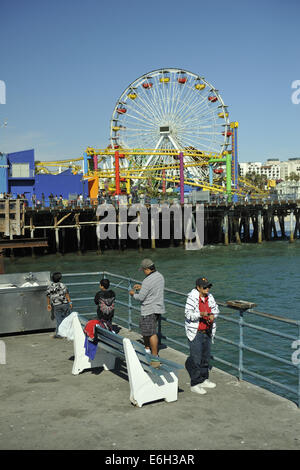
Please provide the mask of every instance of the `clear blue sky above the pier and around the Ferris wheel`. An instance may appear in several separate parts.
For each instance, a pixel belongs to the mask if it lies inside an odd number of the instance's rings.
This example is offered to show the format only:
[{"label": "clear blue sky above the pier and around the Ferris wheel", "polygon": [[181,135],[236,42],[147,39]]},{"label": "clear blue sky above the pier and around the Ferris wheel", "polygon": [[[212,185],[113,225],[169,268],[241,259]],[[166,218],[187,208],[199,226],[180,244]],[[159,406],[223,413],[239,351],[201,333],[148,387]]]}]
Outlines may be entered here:
[{"label": "clear blue sky above the pier and around the Ferris wheel", "polygon": [[1,0],[0,151],[104,148],[124,89],[179,67],[220,91],[241,162],[300,157],[299,13],[298,0]]}]

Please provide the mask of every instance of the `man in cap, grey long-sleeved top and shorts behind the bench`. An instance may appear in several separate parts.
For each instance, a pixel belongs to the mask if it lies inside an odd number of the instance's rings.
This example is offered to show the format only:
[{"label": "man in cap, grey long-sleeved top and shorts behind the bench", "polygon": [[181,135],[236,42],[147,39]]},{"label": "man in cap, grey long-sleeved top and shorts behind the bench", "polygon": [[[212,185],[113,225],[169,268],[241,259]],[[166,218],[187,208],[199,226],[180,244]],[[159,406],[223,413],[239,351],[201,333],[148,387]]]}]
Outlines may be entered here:
[{"label": "man in cap, grey long-sleeved top and shorts behind the bench", "polygon": [[[164,288],[165,280],[162,274],[156,271],[151,259],[143,259],[141,267],[145,274],[142,284],[135,284],[130,295],[141,302],[140,329],[144,338],[146,352],[152,352],[151,365],[159,367],[158,337],[156,333],[159,315],[165,313]],[[139,291],[139,292],[137,292]]]}]

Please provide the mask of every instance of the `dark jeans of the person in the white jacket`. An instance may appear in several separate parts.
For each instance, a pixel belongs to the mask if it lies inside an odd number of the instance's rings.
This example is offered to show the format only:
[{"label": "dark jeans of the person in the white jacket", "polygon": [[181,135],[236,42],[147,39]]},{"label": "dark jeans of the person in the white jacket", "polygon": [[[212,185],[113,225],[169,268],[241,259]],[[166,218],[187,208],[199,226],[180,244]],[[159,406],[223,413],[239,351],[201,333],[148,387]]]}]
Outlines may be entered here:
[{"label": "dark jeans of the person in the white jacket", "polygon": [[185,368],[193,387],[208,379],[211,338],[206,333],[198,331],[193,341],[189,341],[189,346],[190,355],[185,362]]}]

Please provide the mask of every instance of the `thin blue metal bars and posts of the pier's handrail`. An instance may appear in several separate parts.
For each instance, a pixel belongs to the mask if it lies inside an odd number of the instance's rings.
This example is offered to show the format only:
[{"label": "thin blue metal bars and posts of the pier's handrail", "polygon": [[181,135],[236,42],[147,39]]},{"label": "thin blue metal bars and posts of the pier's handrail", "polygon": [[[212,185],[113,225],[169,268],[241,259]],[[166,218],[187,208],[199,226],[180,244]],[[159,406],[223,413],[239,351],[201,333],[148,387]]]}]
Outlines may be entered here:
[{"label": "thin blue metal bars and posts of the pier's handrail", "polygon": [[[86,280],[87,276],[92,276],[92,277],[97,276],[97,280]],[[79,278],[79,277],[80,277],[80,282],[76,282],[77,278]],[[127,308],[127,313],[128,313],[127,319],[124,318],[124,317],[119,316],[118,312],[115,315],[115,319],[120,320],[122,322],[125,322],[127,324],[128,328],[129,328],[129,330],[132,329],[132,327],[138,327],[138,324],[135,323],[132,319],[132,314],[135,313],[135,312],[139,312],[140,307],[133,304],[132,298],[129,295],[129,290],[132,288],[133,284],[141,283],[142,281],[140,281],[138,279],[131,278],[131,277],[122,276],[120,274],[115,274],[115,273],[111,273],[111,272],[108,272],[108,271],[64,274],[64,278],[73,278],[73,280],[75,281],[75,282],[71,282],[71,281],[66,282],[66,285],[69,287],[69,289],[72,290],[72,288],[76,289],[77,287],[80,287],[80,295],[78,297],[74,296],[74,293],[71,292],[71,297],[72,297],[72,302],[73,302],[73,309],[74,308],[76,308],[78,310],[84,309],[85,313],[88,313],[86,311],[86,309],[90,309],[91,307],[93,307],[94,315],[95,315],[96,311],[95,311],[95,304],[94,304],[94,296],[91,297],[91,294],[88,294],[87,296],[83,296],[82,295],[82,287],[83,286],[93,286],[93,288],[94,288],[95,286],[98,285],[100,277],[109,277],[110,280],[111,280],[111,285],[115,289],[120,289],[121,291],[125,291],[125,292],[127,291],[128,292],[128,300],[127,301],[124,301],[124,300],[121,300],[121,299],[118,299],[118,298],[116,299],[116,304],[117,305],[120,305],[121,307]],[[127,283],[126,285],[124,285],[124,281]],[[94,292],[96,292],[96,289],[94,290]],[[165,292],[165,303],[166,303],[166,305],[176,306],[176,307],[182,309],[182,312],[184,312],[185,298],[187,297],[188,294],[184,293],[184,292],[181,292],[181,291],[174,290],[174,289],[169,289],[169,288],[165,288],[164,292]],[[182,297],[182,301],[177,301],[177,299],[176,300],[170,299],[170,296],[172,296],[172,295]],[[83,301],[85,302],[85,304],[81,304],[81,302],[83,302]],[[244,377],[245,377],[245,374],[246,374],[247,376],[251,376],[254,379],[258,379],[260,381],[266,382],[269,385],[275,386],[279,389],[283,389],[283,390],[288,391],[289,393],[291,393],[293,395],[296,395],[297,396],[296,403],[297,403],[297,406],[300,407],[300,359],[297,360],[297,361],[288,360],[286,358],[279,357],[278,354],[277,354],[277,351],[275,351],[273,353],[273,352],[268,352],[268,351],[265,351],[265,350],[260,350],[260,349],[257,349],[256,347],[254,347],[254,345],[252,345],[252,344],[248,345],[248,344],[245,344],[245,342],[244,342],[245,328],[249,328],[249,330],[254,330],[254,331],[258,332],[259,334],[265,334],[266,333],[266,334],[269,334],[269,335],[281,337],[281,338],[290,340],[293,343],[295,342],[296,344],[299,344],[299,346],[300,346],[300,320],[294,320],[294,319],[291,319],[291,318],[280,317],[280,316],[273,315],[273,314],[270,314],[270,313],[260,312],[260,311],[254,310],[252,308],[239,309],[238,307],[232,307],[232,306],[228,305],[228,303],[224,302],[224,301],[218,301],[217,300],[217,303],[218,303],[219,307],[226,308],[227,310],[229,310],[229,313],[222,311],[219,314],[218,318],[222,319],[225,322],[229,322],[229,323],[237,325],[238,328],[239,328],[239,336],[236,339],[236,341],[233,341],[232,339],[229,339],[228,337],[226,338],[224,336],[216,334],[215,340],[216,340],[216,342],[222,342],[224,344],[228,344],[228,345],[231,345],[231,346],[234,346],[235,348],[237,348],[239,358],[238,358],[238,363],[230,362],[230,360],[228,360],[228,358],[218,357],[218,356],[214,356],[214,360],[219,362],[220,364],[223,364],[227,367],[230,367],[230,368],[236,370],[237,371],[237,377],[240,380],[243,380]],[[254,305],[254,304],[252,304],[252,305]],[[232,318],[232,315],[237,314],[237,313],[239,313],[239,317],[238,318]],[[92,314],[92,312],[89,313],[89,314]],[[270,321],[277,321],[277,322],[281,322],[283,324],[290,325],[292,327],[297,327],[297,334],[295,336],[292,336],[291,334],[285,333],[283,331],[278,331],[274,328],[270,329],[270,328],[267,328],[266,326],[261,326],[261,325],[256,325],[254,323],[249,323],[248,321],[245,321],[245,319],[244,319],[245,315],[248,316],[248,314],[251,314],[254,317],[261,317],[261,318],[264,318],[264,319],[268,319]],[[182,330],[184,331],[184,322],[180,322],[180,321],[174,320],[172,318],[168,318],[166,315],[161,315],[160,318],[161,318],[161,320],[160,320],[159,325],[158,325],[158,334],[159,334],[160,340],[161,339],[167,340],[167,341],[169,341],[170,343],[172,343],[174,345],[180,346],[181,348],[183,348],[185,350],[188,350],[189,347],[188,347],[187,340],[186,340],[186,337],[185,337],[184,333],[182,333],[182,338],[184,339],[184,341],[181,341],[180,337],[179,338],[177,337],[177,339],[175,339],[172,336],[164,334],[164,328],[162,327],[163,324],[169,324],[169,325],[172,325],[176,328],[178,328],[178,327],[182,328]],[[293,343],[291,343],[291,345]],[[285,372],[286,372],[287,375],[291,375],[294,379],[297,378],[297,386],[292,387],[290,385],[287,385],[286,383],[281,383],[277,380],[274,380],[273,378],[271,379],[270,377],[267,377],[266,375],[259,374],[257,371],[256,372],[251,371],[249,368],[247,368],[245,366],[244,352],[251,352],[255,355],[258,355],[261,358],[274,360],[274,361],[276,361],[280,364],[283,364],[286,367],[292,368],[292,372],[289,372],[289,371],[285,371]],[[289,351],[289,352],[291,353],[292,351]],[[300,350],[299,350],[299,352],[300,352]],[[293,357],[292,354],[291,354],[291,357]],[[297,372],[295,372],[295,369],[297,369]]]}]

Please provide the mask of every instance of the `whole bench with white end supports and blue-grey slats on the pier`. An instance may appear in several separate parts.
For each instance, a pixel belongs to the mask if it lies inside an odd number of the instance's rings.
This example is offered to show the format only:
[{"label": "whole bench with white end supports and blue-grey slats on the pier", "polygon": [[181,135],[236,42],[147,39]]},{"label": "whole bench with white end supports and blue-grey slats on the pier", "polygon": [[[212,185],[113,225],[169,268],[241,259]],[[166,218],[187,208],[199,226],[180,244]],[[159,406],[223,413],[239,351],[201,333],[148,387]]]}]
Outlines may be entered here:
[{"label": "whole bench with white end supports and blue-grey slats on the pier", "polygon": [[167,359],[159,358],[160,367],[150,365],[153,356],[145,352],[143,345],[137,341],[124,338],[96,325],[98,347],[94,360],[85,354],[85,333],[83,328],[90,320],[84,315],[74,315],[74,365],[72,374],[78,375],[85,369],[103,367],[105,370],[115,368],[116,358],[125,360],[130,385],[130,401],[141,407],[145,403],[164,399],[166,402],[177,400],[177,373],[184,366]]}]

